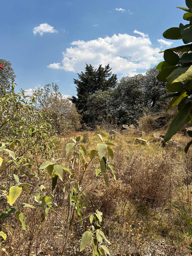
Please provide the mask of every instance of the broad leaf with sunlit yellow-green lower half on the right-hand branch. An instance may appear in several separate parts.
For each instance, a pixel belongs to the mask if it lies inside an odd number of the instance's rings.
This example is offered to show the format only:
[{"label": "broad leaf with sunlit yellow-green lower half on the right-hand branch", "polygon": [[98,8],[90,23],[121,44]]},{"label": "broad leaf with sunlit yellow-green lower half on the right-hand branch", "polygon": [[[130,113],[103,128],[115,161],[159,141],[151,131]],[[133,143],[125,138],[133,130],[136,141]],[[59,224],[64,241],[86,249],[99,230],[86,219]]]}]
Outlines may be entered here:
[{"label": "broad leaf with sunlit yellow-green lower half on the right-hand branch", "polygon": [[192,77],[192,65],[183,65],[174,70],[168,77],[168,83],[183,82],[191,79]]}]

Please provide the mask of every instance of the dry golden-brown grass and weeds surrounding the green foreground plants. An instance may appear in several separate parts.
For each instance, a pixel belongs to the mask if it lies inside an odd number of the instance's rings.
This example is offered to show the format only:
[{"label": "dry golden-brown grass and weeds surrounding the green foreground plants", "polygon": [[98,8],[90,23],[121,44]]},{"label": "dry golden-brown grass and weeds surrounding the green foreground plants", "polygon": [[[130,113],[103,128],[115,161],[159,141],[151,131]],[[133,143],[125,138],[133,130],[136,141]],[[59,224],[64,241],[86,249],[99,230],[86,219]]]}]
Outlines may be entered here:
[{"label": "dry golden-brown grass and weeds surrounding the green foreground plants", "polygon": [[[142,125],[148,125],[148,122],[145,120]],[[142,130],[146,131],[144,126]],[[103,212],[103,226],[111,241],[111,255],[147,255],[145,251],[150,246],[154,246],[157,255],[188,255],[189,251],[183,248],[189,243],[192,234],[187,221],[191,218],[191,150],[185,155],[183,150],[174,146],[162,147],[159,142],[151,142],[151,145],[135,144],[136,136],[132,133],[112,137],[98,128],[96,132],[73,132],[60,139],[61,153],[58,156],[63,157],[62,166],[67,167],[70,163],[70,156],[65,153],[70,138],[80,135],[82,144],[90,152],[99,142],[97,133],[105,141],[117,144],[113,147],[117,181],[110,176],[110,186],[106,187],[101,176],[95,177],[97,161],[91,163],[82,183],[89,198],[84,216],[93,214],[96,209]],[[152,133],[147,133],[144,138],[152,141]],[[189,140],[181,135],[176,135],[175,139],[181,145]],[[81,170],[79,165],[74,169],[77,179]],[[40,172],[38,176],[35,173],[36,170],[23,178],[34,185],[30,188],[30,195],[39,192],[41,184],[51,192],[51,180],[47,174]],[[63,180],[67,179],[68,174],[65,173]],[[65,194],[62,194],[62,186],[63,183],[59,181],[53,199],[60,207],[53,206],[55,215],[50,213],[44,222],[41,223],[40,207],[27,208],[25,211],[28,217],[26,231],[21,231],[14,217],[1,220],[2,230],[8,234],[5,242],[1,240],[1,248],[6,249],[8,255],[60,255],[69,214],[69,186]],[[6,209],[6,203],[3,199],[1,202],[2,212]],[[23,202],[35,205],[33,197],[29,201],[24,193],[18,199],[18,205]],[[65,255],[84,255],[79,252],[79,244],[88,225],[89,218],[84,220],[82,227],[78,222],[74,224]],[[158,254],[157,248],[160,250],[162,246],[161,243],[157,244],[161,240],[164,241],[164,249],[162,254]],[[91,255],[91,252],[87,255]]]}]

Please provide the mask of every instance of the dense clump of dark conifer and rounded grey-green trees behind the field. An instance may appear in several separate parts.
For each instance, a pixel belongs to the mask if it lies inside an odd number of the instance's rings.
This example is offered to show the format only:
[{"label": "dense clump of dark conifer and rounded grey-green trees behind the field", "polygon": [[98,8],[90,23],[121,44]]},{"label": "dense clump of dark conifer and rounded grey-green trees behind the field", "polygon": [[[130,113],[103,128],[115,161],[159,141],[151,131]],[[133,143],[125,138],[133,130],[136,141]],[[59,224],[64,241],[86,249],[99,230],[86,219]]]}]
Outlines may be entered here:
[{"label": "dense clump of dark conifer and rounded grey-green trees behind the field", "polygon": [[111,70],[109,65],[94,69],[86,64],[85,71],[74,79],[77,96],[71,101],[84,123],[137,123],[144,111],[161,109],[159,99],[166,95],[167,89],[166,83],[157,79],[156,67],[144,75],[126,76],[119,81]]}]

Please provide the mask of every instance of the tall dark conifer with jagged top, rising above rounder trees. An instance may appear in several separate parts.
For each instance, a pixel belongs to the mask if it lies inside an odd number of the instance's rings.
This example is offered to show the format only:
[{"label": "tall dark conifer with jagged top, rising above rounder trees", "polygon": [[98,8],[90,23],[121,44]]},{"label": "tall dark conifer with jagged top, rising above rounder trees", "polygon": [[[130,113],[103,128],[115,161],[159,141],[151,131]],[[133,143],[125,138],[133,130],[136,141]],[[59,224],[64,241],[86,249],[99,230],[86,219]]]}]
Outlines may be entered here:
[{"label": "tall dark conifer with jagged top, rising above rounder trees", "polygon": [[[71,101],[75,104],[77,112],[83,116],[88,110],[88,98],[98,91],[107,91],[115,88],[117,84],[117,75],[112,74],[109,64],[104,68],[99,65],[94,69],[92,65],[86,64],[85,72],[78,74],[79,79],[74,79],[76,84],[77,97],[73,96]],[[83,116],[83,121],[87,122]]]}]

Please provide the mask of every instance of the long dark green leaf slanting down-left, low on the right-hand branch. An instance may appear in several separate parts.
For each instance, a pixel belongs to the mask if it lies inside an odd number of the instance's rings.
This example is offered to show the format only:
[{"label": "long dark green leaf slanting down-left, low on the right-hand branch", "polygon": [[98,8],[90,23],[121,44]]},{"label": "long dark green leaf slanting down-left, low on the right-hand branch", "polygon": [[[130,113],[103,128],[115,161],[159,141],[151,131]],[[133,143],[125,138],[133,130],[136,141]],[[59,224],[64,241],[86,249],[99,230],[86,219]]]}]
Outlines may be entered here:
[{"label": "long dark green leaf slanting down-left, low on the right-hand branch", "polygon": [[165,135],[164,140],[168,141],[171,139],[183,126],[185,123],[189,113],[190,113],[191,105],[190,103],[186,104],[185,107],[177,114],[177,116],[173,119],[168,127],[168,131]]}]

